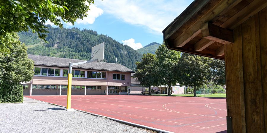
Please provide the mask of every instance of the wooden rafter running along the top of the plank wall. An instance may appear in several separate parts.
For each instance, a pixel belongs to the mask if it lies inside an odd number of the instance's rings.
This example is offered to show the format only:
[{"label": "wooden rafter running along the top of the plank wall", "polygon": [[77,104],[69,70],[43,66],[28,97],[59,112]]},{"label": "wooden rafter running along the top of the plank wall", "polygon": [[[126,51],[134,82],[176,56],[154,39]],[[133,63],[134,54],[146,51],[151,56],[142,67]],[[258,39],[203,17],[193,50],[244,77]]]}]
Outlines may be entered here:
[{"label": "wooden rafter running along the top of the plank wall", "polygon": [[249,17],[264,9],[266,6],[266,0],[254,0],[249,5],[233,15],[230,19],[222,23],[220,27],[234,29],[235,27],[249,19]]}]

